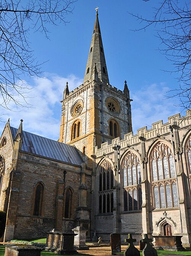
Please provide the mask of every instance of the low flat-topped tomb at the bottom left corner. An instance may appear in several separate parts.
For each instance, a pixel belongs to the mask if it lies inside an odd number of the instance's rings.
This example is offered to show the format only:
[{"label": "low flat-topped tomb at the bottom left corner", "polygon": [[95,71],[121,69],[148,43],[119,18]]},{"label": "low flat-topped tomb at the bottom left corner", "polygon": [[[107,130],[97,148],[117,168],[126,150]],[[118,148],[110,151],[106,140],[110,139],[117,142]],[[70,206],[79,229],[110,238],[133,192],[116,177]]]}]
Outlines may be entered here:
[{"label": "low flat-topped tomb at the bottom left corner", "polygon": [[23,244],[7,244],[5,245],[4,256],[40,256],[42,248]]}]

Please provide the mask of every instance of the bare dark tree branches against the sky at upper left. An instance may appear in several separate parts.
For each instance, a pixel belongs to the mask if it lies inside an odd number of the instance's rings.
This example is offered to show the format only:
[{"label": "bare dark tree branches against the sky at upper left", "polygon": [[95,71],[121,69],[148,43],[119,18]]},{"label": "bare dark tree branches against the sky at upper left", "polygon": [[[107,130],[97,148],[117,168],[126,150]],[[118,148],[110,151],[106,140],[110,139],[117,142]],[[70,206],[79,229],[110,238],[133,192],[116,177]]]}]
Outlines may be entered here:
[{"label": "bare dark tree branches against the sky at upper left", "polygon": [[76,0],[0,0],[0,106],[10,102],[27,106],[28,85],[23,76],[41,74],[41,64],[34,58],[28,35],[40,31],[48,38],[47,25],[68,23]]}]

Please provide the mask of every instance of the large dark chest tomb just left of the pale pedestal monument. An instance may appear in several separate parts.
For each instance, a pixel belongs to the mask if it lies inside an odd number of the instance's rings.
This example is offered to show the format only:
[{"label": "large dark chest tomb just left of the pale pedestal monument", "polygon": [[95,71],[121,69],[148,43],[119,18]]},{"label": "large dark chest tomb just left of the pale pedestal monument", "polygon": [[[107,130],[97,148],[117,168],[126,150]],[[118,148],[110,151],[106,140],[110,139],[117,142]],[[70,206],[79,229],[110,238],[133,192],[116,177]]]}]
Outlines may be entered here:
[{"label": "large dark chest tomb just left of the pale pedestal monument", "polygon": [[47,233],[46,251],[57,254],[77,254],[74,250],[74,233],[60,233],[58,231]]}]

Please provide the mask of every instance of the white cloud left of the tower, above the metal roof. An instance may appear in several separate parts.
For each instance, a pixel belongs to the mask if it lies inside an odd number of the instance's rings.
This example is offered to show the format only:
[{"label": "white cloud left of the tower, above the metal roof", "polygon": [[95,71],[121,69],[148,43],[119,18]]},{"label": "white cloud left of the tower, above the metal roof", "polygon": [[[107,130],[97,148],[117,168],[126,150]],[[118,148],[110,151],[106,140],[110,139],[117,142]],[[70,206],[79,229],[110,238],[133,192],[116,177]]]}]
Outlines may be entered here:
[{"label": "white cloud left of the tower, above the metal roof", "polygon": [[10,125],[18,127],[20,119],[23,119],[23,130],[57,140],[60,132],[61,108],[60,100],[63,98],[63,90],[68,82],[69,90],[73,90],[83,83],[75,75],[59,77],[55,74],[46,74],[46,78],[34,78],[33,89],[28,94],[27,102],[32,105],[29,108],[21,108],[10,103],[12,111],[5,110],[1,118],[0,128],[3,130],[5,123],[10,118]]}]

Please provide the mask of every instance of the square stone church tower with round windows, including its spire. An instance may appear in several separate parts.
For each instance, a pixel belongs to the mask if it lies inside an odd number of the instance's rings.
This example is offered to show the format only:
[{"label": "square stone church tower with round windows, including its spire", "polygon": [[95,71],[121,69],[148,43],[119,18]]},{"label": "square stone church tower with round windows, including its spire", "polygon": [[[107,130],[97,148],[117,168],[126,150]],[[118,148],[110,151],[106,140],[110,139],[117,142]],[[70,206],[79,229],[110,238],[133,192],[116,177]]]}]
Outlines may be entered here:
[{"label": "square stone church tower with round windows, including its spire", "polygon": [[95,145],[132,131],[130,101],[126,81],[123,92],[109,83],[96,11],[84,82],[72,92],[66,83],[64,90],[59,141],[75,145],[92,167]]}]

